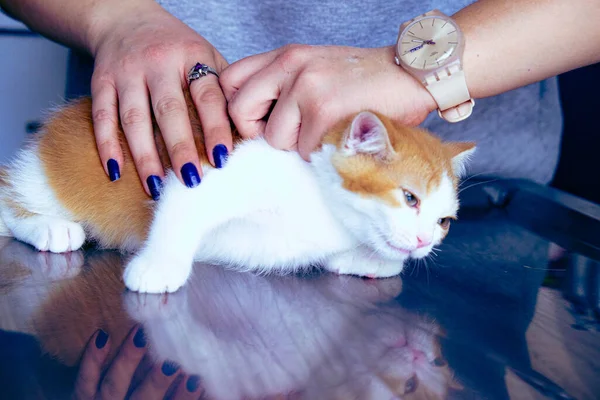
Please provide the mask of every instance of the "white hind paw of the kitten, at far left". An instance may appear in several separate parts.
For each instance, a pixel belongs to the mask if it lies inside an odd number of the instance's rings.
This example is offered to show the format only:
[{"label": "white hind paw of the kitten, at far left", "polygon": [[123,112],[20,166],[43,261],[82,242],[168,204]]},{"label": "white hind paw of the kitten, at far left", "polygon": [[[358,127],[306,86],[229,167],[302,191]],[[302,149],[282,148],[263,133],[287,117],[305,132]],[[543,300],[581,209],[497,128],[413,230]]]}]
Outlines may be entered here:
[{"label": "white hind paw of the kitten, at far left", "polygon": [[46,216],[32,217],[24,224],[17,239],[39,251],[65,253],[79,250],[85,242],[85,232],[76,222]]}]

